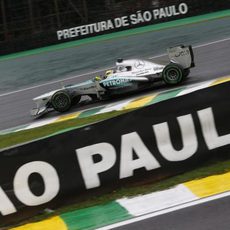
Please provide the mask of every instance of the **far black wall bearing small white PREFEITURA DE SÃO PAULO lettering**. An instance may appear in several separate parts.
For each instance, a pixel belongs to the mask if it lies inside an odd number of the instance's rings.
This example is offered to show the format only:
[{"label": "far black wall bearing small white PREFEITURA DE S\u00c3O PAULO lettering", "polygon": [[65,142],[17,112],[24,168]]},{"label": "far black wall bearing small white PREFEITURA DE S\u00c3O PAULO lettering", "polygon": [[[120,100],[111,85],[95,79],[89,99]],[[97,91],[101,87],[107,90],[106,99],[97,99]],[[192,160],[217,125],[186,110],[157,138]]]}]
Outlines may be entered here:
[{"label": "far black wall bearing small white PREFEITURA DE S\u00c3O PAULO lettering", "polygon": [[[101,5],[97,4],[98,1],[95,3],[91,1],[85,5],[84,15],[86,16],[80,20],[75,10],[69,12],[70,9],[78,9],[80,12],[82,7],[80,3],[73,2],[77,5],[74,6],[73,3],[66,1],[67,5],[70,4],[66,12],[64,8],[59,8],[59,10],[54,8],[47,1],[45,15],[40,15],[44,6],[36,6],[36,2],[31,2],[32,5],[27,6],[28,14],[21,15],[21,18],[24,19],[20,18],[18,21],[8,19],[11,18],[11,13],[16,8],[6,9],[4,13],[7,18],[3,20],[4,25],[1,25],[0,22],[0,26],[4,28],[0,33],[0,55],[230,8],[230,0],[126,0],[114,3],[113,1],[101,1]],[[31,10],[31,7],[34,9]],[[37,13],[37,11],[41,12]],[[35,16],[35,14],[40,16]],[[11,20],[13,19],[14,17]]]}]

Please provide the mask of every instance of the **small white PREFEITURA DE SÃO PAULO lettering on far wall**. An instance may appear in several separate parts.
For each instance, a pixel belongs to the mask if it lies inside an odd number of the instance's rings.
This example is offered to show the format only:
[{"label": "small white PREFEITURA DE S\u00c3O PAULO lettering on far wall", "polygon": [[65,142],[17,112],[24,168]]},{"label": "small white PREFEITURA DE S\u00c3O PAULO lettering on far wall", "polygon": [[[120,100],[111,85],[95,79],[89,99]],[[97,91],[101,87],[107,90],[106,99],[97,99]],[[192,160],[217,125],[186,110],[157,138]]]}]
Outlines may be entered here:
[{"label": "small white PREFEITURA DE S\u00c3O PAULO lettering on far wall", "polygon": [[58,30],[57,39],[65,40],[75,37],[82,37],[90,34],[112,31],[118,28],[141,25],[147,22],[154,22],[164,18],[186,15],[189,11],[186,3],[175,4],[167,7],[156,8],[149,11],[137,11],[135,14],[126,15],[118,18],[108,19],[87,25],[81,25],[68,29]]}]

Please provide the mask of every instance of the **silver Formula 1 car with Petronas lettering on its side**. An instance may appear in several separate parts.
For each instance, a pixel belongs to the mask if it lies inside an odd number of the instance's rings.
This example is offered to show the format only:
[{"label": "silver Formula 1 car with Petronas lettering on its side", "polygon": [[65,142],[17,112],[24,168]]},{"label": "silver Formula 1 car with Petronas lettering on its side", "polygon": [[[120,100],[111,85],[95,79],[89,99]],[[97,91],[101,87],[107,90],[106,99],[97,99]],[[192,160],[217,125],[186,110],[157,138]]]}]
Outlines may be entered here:
[{"label": "silver Formula 1 car with Petronas lettering on its side", "polygon": [[37,106],[31,110],[31,115],[39,117],[53,109],[66,112],[84,95],[93,100],[103,100],[113,95],[151,88],[158,81],[168,85],[180,84],[189,75],[190,68],[195,66],[192,47],[176,46],[167,49],[167,53],[170,60],[167,65],[142,59],[118,59],[115,70],[107,70],[103,77],[64,86],[34,98]]}]

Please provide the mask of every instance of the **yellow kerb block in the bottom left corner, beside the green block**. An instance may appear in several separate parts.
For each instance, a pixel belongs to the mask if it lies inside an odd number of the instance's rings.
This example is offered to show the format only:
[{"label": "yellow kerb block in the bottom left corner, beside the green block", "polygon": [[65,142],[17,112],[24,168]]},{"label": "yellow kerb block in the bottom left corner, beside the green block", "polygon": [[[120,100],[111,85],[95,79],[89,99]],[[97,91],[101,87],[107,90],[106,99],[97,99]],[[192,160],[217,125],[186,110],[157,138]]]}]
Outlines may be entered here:
[{"label": "yellow kerb block in the bottom left corner, beside the green block", "polygon": [[11,228],[11,230],[68,230],[65,222],[59,217],[52,217],[36,223],[25,224],[20,227]]}]

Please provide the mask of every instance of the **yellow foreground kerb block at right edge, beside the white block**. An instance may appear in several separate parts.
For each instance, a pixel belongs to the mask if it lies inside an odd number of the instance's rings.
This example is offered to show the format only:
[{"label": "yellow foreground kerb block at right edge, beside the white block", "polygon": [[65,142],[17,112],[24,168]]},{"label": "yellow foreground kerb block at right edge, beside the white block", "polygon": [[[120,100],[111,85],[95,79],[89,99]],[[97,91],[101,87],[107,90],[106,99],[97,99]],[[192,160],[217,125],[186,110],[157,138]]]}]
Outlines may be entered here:
[{"label": "yellow foreground kerb block at right edge, beside the white block", "polygon": [[230,172],[184,183],[196,196],[203,198],[230,190]]}]

